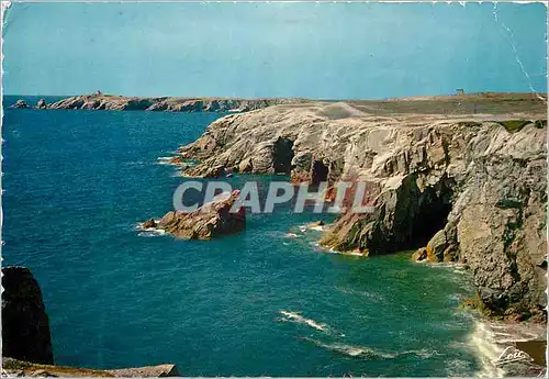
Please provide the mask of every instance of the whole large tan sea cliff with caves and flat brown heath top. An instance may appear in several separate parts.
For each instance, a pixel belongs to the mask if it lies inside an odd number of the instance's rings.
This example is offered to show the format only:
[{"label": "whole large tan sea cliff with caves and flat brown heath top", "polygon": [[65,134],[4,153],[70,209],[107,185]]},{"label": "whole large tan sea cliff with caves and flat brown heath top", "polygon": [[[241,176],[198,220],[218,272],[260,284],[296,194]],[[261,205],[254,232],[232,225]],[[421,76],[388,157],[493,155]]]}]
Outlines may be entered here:
[{"label": "whole large tan sea cliff with caves and flat brown heath top", "polygon": [[325,246],[377,255],[426,245],[417,257],[470,268],[494,315],[544,317],[546,119],[533,93],[277,105],[213,122],[178,158],[201,160],[188,176],[366,182],[376,211],[341,214]]}]

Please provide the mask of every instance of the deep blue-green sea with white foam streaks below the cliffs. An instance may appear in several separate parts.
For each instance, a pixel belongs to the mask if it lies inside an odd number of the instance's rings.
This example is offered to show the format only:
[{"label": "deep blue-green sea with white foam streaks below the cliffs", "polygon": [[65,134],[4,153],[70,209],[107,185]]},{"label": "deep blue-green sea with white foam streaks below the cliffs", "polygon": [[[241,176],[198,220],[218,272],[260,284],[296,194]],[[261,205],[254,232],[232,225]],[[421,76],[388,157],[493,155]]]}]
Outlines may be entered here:
[{"label": "deep blue-green sea with white foam streaks below the cliffs", "polygon": [[4,112],[3,265],[36,276],[58,365],[173,363],[183,376],[480,371],[474,316],[458,308],[472,294],[459,267],[415,264],[410,252],[327,254],[320,232],[300,226],[332,219],[285,208],[210,242],[136,231],[171,209],[186,180],[158,157],[220,115]]}]

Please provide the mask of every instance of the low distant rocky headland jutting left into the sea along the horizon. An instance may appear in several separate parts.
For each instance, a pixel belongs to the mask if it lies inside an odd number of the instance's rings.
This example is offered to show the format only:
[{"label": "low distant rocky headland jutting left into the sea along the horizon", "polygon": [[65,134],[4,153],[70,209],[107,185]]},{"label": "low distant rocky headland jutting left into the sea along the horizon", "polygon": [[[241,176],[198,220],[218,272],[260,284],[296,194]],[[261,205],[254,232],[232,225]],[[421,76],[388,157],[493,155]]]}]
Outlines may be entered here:
[{"label": "low distant rocky headland jutting left into the sea along the horizon", "polygon": [[274,104],[304,102],[303,99],[231,98],[127,98],[103,93],[81,94],[48,104],[47,109],[166,112],[246,112]]}]

